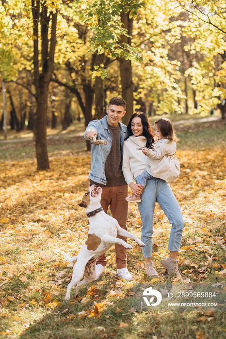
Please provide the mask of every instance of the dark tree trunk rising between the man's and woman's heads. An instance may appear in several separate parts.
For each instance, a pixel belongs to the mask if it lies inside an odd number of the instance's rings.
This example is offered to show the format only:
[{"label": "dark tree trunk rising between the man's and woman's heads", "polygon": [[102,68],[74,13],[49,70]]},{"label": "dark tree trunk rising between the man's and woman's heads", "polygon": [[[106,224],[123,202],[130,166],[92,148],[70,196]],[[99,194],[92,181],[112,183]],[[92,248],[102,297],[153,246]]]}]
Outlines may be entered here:
[{"label": "dark tree trunk rising between the man's and woman's heads", "polygon": [[[132,24],[133,18],[129,17],[128,13],[121,13],[121,22],[123,27],[128,31],[128,35],[132,36]],[[121,45],[123,44],[131,45],[131,37],[122,35],[121,36]],[[133,82],[132,82],[132,64],[130,60],[125,60],[123,58],[119,59],[120,64],[120,77],[121,77],[121,87],[122,87],[122,98],[126,101],[127,113],[123,117],[122,121],[125,124],[129,123],[129,119],[133,114]]]}]

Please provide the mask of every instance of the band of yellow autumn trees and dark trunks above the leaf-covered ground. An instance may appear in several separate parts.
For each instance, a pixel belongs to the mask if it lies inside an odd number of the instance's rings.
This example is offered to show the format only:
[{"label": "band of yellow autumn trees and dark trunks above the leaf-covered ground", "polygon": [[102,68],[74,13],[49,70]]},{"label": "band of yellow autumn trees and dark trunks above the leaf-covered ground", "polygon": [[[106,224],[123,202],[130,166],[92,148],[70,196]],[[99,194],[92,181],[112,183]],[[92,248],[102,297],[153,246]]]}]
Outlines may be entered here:
[{"label": "band of yellow autumn trees and dark trunks above the leaf-covered ground", "polygon": [[224,119],[225,11],[223,0],[1,0],[0,130],[33,130],[45,170],[47,126],[87,126],[112,96],[127,101],[124,123],[135,109]]}]

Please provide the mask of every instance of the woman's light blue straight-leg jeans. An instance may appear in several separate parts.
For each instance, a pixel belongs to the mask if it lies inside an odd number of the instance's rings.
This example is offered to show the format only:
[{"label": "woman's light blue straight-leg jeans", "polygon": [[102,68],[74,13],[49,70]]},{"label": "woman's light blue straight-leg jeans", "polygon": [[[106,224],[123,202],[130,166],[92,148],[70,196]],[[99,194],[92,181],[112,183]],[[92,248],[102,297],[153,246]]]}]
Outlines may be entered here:
[{"label": "woman's light blue straight-leg jeans", "polygon": [[152,256],[153,216],[156,201],[172,224],[168,250],[177,252],[182,239],[184,220],[170,185],[167,181],[159,178],[147,180],[146,187],[142,193],[142,201],[138,202],[142,221],[141,240],[146,245],[142,247],[145,258],[151,258]]}]

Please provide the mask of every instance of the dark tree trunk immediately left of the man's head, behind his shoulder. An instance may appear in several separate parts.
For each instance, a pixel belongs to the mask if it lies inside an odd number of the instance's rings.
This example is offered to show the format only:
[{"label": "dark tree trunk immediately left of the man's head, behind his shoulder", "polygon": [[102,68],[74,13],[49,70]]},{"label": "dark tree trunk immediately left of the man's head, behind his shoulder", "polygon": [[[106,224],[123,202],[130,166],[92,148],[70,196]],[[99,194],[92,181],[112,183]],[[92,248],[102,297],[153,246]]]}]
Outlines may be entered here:
[{"label": "dark tree trunk immediately left of the man's head, behind his shoulder", "polygon": [[[104,62],[104,53],[97,54],[96,65]],[[95,119],[104,117],[104,81],[101,77],[95,77]]]}]

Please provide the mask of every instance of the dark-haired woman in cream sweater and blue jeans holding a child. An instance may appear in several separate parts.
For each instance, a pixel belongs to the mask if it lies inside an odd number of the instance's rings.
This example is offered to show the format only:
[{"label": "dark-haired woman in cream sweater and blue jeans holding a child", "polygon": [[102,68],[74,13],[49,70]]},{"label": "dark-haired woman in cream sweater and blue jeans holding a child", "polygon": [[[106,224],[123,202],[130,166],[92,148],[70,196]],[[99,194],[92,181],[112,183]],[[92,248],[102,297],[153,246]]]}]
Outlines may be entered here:
[{"label": "dark-haired woman in cream sweater and blue jeans holding a child", "polygon": [[134,179],[139,176],[147,165],[147,156],[143,154],[141,148],[152,148],[154,136],[145,113],[134,113],[127,126],[129,136],[124,141],[123,151],[123,174],[127,184],[133,194],[139,196],[142,194],[142,201],[138,202],[138,209],[141,215],[142,228],[141,240],[145,243],[142,252],[145,258],[145,271],[149,277],[158,277],[155,270],[152,257],[152,234],[153,234],[153,216],[155,202],[160,204],[169,222],[172,224],[168,250],[170,255],[167,259],[162,259],[161,264],[167,269],[169,274],[176,274],[180,278],[178,271],[178,250],[181,243],[184,220],[183,216],[169,184],[160,178],[147,180],[144,190],[139,184],[134,184]]}]

